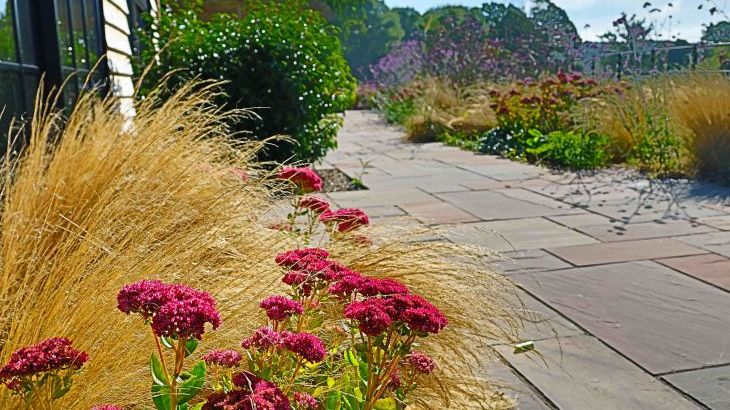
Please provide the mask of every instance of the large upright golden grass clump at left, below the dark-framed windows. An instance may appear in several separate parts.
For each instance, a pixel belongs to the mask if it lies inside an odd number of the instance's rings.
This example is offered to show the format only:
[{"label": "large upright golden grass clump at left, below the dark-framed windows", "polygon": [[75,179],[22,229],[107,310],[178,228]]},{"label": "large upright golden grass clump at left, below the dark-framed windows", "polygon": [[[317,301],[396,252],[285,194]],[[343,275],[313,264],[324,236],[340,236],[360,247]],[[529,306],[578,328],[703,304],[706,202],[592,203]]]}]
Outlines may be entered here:
[{"label": "large upright golden grass clump at left, below the dark-framed windows", "polygon": [[[257,146],[226,139],[231,115],[211,105],[215,84],[157,94],[133,122],[113,99],[82,96],[61,117],[39,106],[30,140],[4,177],[0,321],[2,359],[67,336],[91,360],[60,408],[145,403],[149,335],[116,310],[116,293],[141,278],[210,291],[226,326],[206,340],[236,346],[286,247],[256,219],[269,190],[231,167],[258,172]],[[126,130],[126,131],[124,131]],[[0,408],[12,408],[5,395]]]}]

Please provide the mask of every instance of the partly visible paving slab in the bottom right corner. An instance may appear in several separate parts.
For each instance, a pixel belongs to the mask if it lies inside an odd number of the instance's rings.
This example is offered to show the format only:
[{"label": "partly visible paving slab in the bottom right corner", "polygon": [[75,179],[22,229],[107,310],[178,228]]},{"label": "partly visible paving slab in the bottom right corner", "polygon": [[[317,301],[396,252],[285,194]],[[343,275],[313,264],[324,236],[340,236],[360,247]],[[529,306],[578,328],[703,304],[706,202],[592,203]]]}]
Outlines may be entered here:
[{"label": "partly visible paving slab in the bottom right corner", "polygon": [[712,410],[730,410],[730,366],[675,373],[663,379]]}]

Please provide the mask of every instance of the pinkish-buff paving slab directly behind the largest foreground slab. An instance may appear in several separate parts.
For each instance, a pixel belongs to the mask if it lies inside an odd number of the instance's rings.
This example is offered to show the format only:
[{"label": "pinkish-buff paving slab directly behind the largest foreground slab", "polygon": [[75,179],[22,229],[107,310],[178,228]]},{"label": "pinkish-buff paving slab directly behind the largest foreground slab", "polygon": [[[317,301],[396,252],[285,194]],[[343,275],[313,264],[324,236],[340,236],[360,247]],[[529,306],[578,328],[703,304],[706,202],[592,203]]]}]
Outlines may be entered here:
[{"label": "pinkish-buff paving slab directly behind the largest foreground slab", "polygon": [[706,250],[671,238],[596,243],[592,245],[549,248],[547,250],[553,255],[578,266],[707,253]]}]

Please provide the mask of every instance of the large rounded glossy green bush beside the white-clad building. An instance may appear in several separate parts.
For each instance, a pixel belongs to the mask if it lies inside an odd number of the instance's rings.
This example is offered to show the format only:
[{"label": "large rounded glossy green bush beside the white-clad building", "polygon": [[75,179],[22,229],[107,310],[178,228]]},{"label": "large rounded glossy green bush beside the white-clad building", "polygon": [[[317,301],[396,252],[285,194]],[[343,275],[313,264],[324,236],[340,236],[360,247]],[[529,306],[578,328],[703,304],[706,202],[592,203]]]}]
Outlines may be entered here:
[{"label": "large rounded glossy green bush beside the white-clad building", "polygon": [[[239,117],[236,131],[295,140],[277,142],[270,158],[314,161],[336,146],[338,113],[353,103],[355,80],[336,30],[319,12],[289,2],[254,2],[241,20],[219,15],[204,21],[195,11],[168,9],[158,32],[170,43],[152,66],[146,90],[167,75],[171,87],[193,77],[225,80],[218,102],[260,116]],[[144,38],[144,60],[152,61],[152,34]]]}]

